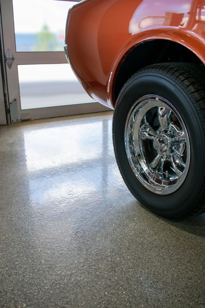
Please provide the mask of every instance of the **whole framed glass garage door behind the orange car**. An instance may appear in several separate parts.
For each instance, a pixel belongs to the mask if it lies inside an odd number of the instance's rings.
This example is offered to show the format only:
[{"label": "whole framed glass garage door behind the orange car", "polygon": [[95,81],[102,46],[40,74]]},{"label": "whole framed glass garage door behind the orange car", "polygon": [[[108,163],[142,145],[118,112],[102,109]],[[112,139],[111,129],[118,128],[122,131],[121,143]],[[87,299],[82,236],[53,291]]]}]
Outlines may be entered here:
[{"label": "whole framed glass garage door behind the orange car", "polygon": [[77,2],[0,3],[11,122],[109,110],[86,94],[65,58],[65,22]]}]

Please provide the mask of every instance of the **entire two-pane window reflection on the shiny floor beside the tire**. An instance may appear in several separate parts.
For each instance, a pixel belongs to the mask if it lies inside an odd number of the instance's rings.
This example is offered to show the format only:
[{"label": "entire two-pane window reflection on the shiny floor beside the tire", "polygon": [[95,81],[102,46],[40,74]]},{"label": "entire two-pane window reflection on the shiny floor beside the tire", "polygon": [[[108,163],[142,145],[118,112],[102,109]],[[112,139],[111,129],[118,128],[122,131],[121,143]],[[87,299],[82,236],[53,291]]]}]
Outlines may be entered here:
[{"label": "entire two-pane window reflection on the shiny floor beside the tire", "polygon": [[103,198],[112,185],[125,186],[111,129],[112,119],[97,118],[24,132],[31,205],[66,211],[79,200],[96,199],[95,194]]}]

